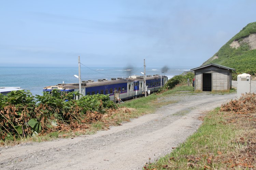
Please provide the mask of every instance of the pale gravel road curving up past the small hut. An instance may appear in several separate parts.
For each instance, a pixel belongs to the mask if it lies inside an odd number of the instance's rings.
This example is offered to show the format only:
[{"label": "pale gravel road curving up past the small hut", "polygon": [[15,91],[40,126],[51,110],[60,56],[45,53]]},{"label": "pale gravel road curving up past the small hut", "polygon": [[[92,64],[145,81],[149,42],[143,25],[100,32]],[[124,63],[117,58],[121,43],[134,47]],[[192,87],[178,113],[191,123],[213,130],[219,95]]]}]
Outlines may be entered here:
[{"label": "pale gravel road curving up past the small hut", "polygon": [[202,123],[198,117],[236,96],[174,95],[160,100],[176,103],[95,135],[2,147],[0,169],[142,169],[193,134]]}]

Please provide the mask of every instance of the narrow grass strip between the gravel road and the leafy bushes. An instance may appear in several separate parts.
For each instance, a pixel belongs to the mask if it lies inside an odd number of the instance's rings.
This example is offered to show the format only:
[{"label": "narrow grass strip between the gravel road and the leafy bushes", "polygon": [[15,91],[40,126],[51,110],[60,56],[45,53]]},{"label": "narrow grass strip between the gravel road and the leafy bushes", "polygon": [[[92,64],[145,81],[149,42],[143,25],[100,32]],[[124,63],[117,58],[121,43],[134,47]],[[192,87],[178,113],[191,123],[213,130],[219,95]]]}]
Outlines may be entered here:
[{"label": "narrow grass strip between the gravel road and the leafy bushes", "polygon": [[91,122],[86,124],[87,129],[77,129],[70,130],[66,132],[51,132],[44,135],[34,135],[32,137],[22,138],[22,139],[6,139],[5,141],[0,140],[0,146],[10,146],[17,145],[24,142],[42,142],[42,141],[51,141],[57,138],[70,138],[80,135],[92,135],[99,130],[108,130],[109,126],[118,126],[123,122],[128,122],[130,119],[138,118],[144,114],[154,113],[157,108],[176,103],[177,101],[165,100],[163,97],[168,97],[175,93],[191,93],[194,92],[194,87],[186,87],[178,85],[171,90],[165,91],[163,93],[153,93],[149,96],[136,98],[133,100],[126,101],[125,103],[120,104],[119,109],[106,112],[102,118],[98,121]]}]

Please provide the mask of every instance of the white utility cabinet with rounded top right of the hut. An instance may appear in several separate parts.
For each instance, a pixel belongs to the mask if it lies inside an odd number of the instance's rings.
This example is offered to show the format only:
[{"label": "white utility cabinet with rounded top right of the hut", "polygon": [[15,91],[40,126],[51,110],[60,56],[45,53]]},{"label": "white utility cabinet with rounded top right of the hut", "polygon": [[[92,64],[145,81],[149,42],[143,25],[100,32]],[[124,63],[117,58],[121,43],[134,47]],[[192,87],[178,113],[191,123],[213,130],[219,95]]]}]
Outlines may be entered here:
[{"label": "white utility cabinet with rounded top right of the hut", "polygon": [[251,92],[251,75],[239,74],[237,76],[237,97],[240,98],[242,94]]}]

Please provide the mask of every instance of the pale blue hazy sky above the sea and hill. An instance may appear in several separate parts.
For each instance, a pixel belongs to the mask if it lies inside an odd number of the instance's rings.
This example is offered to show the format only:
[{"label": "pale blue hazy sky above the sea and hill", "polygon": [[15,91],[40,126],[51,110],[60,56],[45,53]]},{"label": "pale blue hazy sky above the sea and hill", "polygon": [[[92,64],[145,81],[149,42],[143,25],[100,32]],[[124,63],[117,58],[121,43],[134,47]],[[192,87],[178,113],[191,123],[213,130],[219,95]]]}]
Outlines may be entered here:
[{"label": "pale blue hazy sky above the sea and hill", "polygon": [[0,67],[199,67],[255,0],[1,1]]}]

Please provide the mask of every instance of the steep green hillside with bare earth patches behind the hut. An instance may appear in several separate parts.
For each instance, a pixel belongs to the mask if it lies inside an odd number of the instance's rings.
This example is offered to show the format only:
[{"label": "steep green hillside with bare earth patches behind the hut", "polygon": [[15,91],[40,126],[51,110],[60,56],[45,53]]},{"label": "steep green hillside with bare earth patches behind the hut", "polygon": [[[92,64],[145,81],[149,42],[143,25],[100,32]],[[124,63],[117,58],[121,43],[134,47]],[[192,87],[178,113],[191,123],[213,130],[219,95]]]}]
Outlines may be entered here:
[{"label": "steep green hillside with bare earth patches behind the hut", "polygon": [[236,69],[238,74],[256,75],[256,22],[249,23],[202,65],[220,64]]}]

